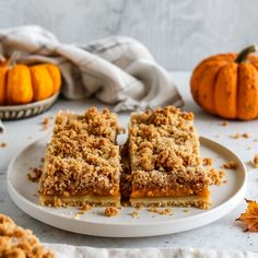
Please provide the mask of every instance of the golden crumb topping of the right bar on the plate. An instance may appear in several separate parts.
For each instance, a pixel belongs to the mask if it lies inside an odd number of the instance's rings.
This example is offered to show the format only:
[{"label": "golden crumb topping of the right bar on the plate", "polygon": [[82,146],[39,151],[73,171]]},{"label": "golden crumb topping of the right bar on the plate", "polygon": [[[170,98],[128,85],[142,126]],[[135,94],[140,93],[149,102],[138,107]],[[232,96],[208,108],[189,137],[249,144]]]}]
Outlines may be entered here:
[{"label": "golden crumb topping of the right bar on the plate", "polygon": [[132,114],[129,152],[132,189],[201,191],[208,179],[199,154],[194,115],[167,106]]}]

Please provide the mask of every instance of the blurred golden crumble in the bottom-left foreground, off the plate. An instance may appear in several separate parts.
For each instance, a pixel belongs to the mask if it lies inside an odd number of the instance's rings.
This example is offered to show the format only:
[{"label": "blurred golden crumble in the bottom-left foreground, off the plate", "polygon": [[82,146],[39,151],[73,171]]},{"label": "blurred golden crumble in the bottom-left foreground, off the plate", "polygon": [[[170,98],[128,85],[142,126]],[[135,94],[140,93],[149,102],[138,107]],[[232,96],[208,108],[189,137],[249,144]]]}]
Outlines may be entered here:
[{"label": "blurred golden crumble in the bottom-left foreground, off the plate", "polygon": [[32,231],[17,226],[12,219],[0,214],[0,257],[54,258],[55,255],[39,244]]}]

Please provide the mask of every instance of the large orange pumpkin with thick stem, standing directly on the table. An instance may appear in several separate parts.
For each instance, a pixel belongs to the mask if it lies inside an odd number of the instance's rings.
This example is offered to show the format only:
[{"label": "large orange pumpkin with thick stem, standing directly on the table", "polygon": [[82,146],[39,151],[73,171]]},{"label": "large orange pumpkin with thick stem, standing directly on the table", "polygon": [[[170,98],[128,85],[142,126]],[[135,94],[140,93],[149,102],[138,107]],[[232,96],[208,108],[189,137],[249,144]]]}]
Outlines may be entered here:
[{"label": "large orange pumpkin with thick stem, standing directly on the table", "polygon": [[208,113],[228,119],[258,117],[258,46],[211,56],[192,72],[194,99]]}]

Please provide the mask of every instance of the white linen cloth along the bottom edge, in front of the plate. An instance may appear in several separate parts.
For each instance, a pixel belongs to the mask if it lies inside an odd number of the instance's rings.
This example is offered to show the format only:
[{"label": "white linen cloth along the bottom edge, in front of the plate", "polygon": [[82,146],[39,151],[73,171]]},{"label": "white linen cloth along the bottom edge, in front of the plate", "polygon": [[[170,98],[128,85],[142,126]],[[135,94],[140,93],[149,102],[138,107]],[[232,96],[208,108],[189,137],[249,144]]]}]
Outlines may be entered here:
[{"label": "white linen cloth along the bottom edge, in front of the plate", "polygon": [[180,248],[93,248],[61,244],[45,244],[56,251],[57,258],[258,258],[250,251],[220,251]]}]

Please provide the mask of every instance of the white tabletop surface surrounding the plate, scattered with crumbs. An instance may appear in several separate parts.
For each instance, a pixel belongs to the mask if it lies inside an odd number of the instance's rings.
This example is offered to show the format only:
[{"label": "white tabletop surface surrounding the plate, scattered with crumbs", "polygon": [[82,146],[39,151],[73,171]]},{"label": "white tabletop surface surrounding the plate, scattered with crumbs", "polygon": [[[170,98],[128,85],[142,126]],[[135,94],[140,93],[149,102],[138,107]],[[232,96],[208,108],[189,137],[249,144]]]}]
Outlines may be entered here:
[{"label": "white tabletop surface surrounding the plate, scattered with crumbs", "polygon": [[[227,127],[220,125],[222,119],[212,117],[202,112],[191,99],[189,93],[189,72],[172,72],[172,77],[186,103],[184,109],[192,110],[196,115],[196,126],[199,133],[225,144],[239,155],[244,162],[253,159],[258,153],[258,120],[242,122],[230,121]],[[87,106],[96,102],[85,99],[82,102],[59,101],[50,110],[40,116],[4,122],[7,132],[0,134],[0,142],[7,142],[5,149],[0,149],[0,212],[12,216],[17,224],[32,228],[35,234],[48,243],[66,243],[71,245],[87,245],[94,247],[175,247],[191,246],[201,248],[215,248],[220,250],[239,249],[258,251],[258,234],[244,233],[243,228],[235,222],[235,219],[245,210],[245,201],[228,215],[210,225],[198,230],[146,238],[105,238],[73,234],[45,225],[21,211],[10,199],[5,185],[5,173],[11,159],[17,154],[26,144],[47,133],[42,130],[44,117],[55,115],[58,109],[72,109],[83,112]],[[99,105],[101,104],[96,104]],[[127,114],[120,115],[125,125]],[[50,128],[48,129],[50,130]],[[248,132],[249,139],[231,139],[228,136],[236,132]],[[248,148],[251,148],[250,150]],[[258,199],[258,169],[247,165],[248,189],[246,198]]]}]

